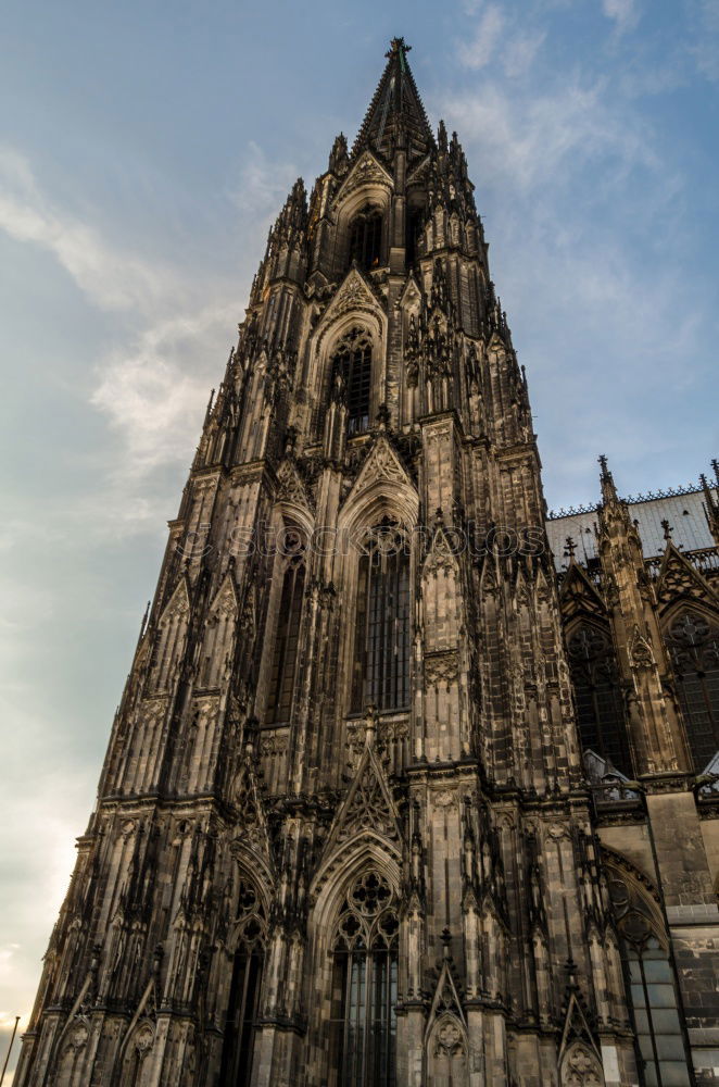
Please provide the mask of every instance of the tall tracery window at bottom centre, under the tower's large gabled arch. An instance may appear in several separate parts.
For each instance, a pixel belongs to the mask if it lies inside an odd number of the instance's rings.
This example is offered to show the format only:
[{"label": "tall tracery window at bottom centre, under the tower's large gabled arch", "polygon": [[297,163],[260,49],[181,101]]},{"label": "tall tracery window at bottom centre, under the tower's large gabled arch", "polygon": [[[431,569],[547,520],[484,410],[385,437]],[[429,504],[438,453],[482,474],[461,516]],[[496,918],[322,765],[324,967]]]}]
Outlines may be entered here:
[{"label": "tall tracery window at bottom centre, under the tower's large gabled arch", "polygon": [[400,924],[387,879],[350,888],[332,948],[329,1087],[394,1087]]}]

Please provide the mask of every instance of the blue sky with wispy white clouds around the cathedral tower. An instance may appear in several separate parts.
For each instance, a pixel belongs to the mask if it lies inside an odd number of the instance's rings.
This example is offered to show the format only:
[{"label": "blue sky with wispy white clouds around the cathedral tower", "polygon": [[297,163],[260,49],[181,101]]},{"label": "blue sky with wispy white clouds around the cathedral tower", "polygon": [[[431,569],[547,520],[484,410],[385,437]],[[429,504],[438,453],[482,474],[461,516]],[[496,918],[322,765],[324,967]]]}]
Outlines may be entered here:
[{"label": "blue sky with wispy white clouds around the cathedral tower", "polygon": [[550,505],[595,500],[600,452],[625,493],[719,455],[719,0],[5,0],[3,30],[8,1024],[267,226],[390,37],[464,142]]}]

